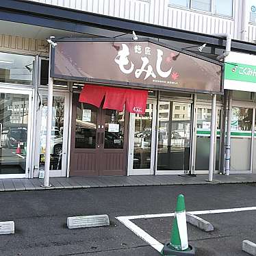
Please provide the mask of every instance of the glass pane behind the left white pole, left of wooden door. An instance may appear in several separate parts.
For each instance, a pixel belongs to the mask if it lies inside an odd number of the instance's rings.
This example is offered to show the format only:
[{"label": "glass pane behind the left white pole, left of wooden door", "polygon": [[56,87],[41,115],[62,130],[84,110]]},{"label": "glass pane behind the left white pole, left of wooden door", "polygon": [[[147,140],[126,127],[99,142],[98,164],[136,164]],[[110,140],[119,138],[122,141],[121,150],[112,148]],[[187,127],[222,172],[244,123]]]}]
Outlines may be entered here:
[{"label": "glass pane behind the left white pole, left of wooden door", "polygon": [[[64,129],[64,97],[53,96],[53,119],[51,130],[51,160],[50,170],[62,169],[62,144]],[[40,129],[40,159],[39,169],[44,169],[45,148],[47,136],[47,96],[42,96],[42,116]]]}]

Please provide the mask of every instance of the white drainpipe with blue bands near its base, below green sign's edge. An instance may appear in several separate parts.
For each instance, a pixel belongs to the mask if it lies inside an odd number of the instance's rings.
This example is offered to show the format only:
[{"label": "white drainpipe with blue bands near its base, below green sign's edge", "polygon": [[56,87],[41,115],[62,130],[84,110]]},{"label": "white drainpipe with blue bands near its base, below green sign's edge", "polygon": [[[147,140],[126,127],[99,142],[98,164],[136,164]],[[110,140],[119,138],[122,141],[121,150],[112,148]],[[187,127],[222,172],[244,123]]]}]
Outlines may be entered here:
[{"label": "white drainpipe with blue bands near its base, below green sign's edge", "polygon": [[229,96],[228,96],[228,102],[227,102],[227,138],[226,138],[226,159],[225,159],[226,175],[229,175],[229,170],[230,170],[231,114],[232,114],[232,91],[229,90]]}]

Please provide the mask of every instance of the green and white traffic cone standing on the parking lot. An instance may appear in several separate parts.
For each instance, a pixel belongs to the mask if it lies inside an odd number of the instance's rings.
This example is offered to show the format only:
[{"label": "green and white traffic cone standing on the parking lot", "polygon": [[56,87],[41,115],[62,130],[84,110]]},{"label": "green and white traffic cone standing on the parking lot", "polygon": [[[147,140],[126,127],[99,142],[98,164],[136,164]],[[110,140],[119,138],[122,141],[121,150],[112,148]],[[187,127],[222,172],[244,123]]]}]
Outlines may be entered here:
[{"label": "green and white traffic cone standing on the parking lot", "polygon": [[188,244],[185,200],[183,194],[179,194],[177,198],[170,242],[164,246],[162,255],[195,255],[195,249]]}]

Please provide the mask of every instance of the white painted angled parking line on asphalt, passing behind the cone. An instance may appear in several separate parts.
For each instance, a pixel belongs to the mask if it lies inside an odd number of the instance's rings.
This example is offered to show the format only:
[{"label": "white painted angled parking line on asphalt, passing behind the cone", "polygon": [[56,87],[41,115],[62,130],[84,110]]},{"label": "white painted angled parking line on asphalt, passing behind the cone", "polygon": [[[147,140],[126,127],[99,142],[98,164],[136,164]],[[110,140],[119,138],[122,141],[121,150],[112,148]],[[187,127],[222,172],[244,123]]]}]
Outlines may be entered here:
[{"label": "white painted angled parking line on asphalt, passing behind the cone", "polygon": [[[208,209],[205,211],[194,211],[188,212],[194,215],[204,215],[204,214],[226,214],[230,212],[246,212],[246,211],[255,211],[256,207],[241,207],[241,208],[231,208],[231,209]],[[164,248],[164,244],[161,244],[151,235],[146,233],[143,229],[138,227],[136,224],[131,222],[131,220],[142,219],[142,218],[165,218],[165,217],[173,217],[175,213],[169,214],[144,214],[144,215],[133,215],[133,216],[119,216],[116,217],[125,227],[133,231],[139,238],[142,238],[147,244],[155,248],[159,253],[161,253],[162,249]]]}]

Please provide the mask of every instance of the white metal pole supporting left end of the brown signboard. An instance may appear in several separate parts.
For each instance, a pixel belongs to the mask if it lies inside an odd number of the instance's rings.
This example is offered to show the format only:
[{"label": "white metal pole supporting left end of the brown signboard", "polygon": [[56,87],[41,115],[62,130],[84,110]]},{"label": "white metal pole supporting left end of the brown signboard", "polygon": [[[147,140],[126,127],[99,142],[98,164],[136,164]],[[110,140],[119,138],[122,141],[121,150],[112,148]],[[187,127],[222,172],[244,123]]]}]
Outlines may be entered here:
[{"label": "white metal pole supporting left end of the brown signboard", "polygon": [[51,160],[51,126],[53,118],[53,78],[51,77],[51,44],[49,50],[49,79],[48,79],[48,101],[47,101],[47,141],[45,149],[45,164],[44,164],[44,184],[43,187],[49,188],[49,172]]}]

